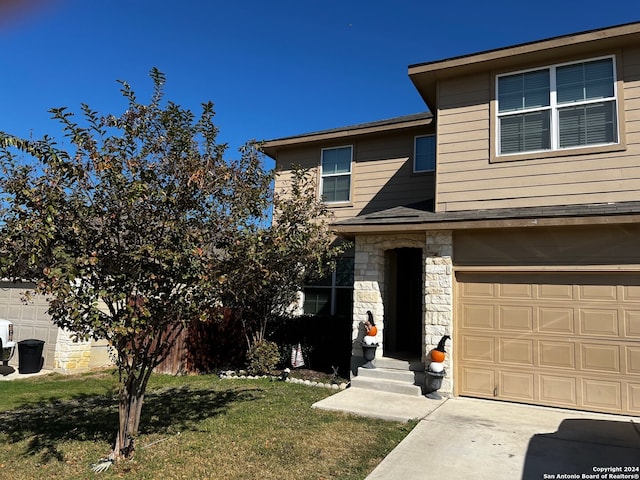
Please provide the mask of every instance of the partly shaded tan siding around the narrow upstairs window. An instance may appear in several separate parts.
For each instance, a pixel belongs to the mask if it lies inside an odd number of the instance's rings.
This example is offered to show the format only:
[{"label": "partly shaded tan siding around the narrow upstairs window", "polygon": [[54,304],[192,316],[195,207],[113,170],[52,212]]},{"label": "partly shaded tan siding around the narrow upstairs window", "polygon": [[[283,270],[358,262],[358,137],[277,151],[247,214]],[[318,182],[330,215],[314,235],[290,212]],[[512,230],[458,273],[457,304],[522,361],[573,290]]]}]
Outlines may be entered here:
[{"label": "partly shaded tan siding around the narrow upstairs window", "polygon": [[282,150],[278,153],[276,190],[286,185],[293,164],[313,169],[319,181],[321,149],[351,145],[351,201],[330,205],[336,221],[433,198],[433,173],[413,173],[414,138],[430,133],[433,131],[428,128],[408,129],[400,134],[369,135]]}]

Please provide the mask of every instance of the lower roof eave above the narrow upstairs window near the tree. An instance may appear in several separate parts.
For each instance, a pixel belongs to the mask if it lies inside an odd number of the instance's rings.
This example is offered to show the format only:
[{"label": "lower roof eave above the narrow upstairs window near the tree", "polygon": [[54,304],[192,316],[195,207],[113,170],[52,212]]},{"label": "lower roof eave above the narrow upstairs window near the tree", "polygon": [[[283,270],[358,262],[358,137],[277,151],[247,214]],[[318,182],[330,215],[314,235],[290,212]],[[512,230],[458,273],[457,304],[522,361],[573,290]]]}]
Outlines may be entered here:
[{"label": "lower roof eave above the narrow upstairs window near the tree", "polygon": [[392,132],[394,130],[411,127],[422,127],[425,125],[429,125],[432,120],[433,115],[430,112],[423,112],[414,113],[412,115],[404,115],[401,117],[388,118],[385,120],[378,120],[375,122],[360,123],[347,127],[320,130],[317,132],[304,133],[291,137],[267,140],[262,145],[262,151],[271,158],[275,159],[278,149],[283,147],[291,147],[312,142],[323,142],[327,140],[336,140],[340,138],[353,137],[356,135]]}]

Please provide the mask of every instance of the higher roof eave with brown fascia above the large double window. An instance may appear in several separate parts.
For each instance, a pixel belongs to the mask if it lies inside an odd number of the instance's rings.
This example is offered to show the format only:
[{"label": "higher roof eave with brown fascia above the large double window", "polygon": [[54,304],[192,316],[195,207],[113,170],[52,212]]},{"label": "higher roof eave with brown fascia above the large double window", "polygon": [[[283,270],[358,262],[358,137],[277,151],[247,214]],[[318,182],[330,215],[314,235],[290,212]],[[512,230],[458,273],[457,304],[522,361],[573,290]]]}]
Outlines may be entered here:
[{"label": "higher roof eave with brown fascia above the large double window", "polygon": [[591,55],[596,49],[610,49],[640,43],[640,22],[562,35],[545,40],[487,50],[409,66],[409,78],[429,107],[436,108],[438,81],[479,71],[511,68],[515,62],[545,62],[550,55]]}]

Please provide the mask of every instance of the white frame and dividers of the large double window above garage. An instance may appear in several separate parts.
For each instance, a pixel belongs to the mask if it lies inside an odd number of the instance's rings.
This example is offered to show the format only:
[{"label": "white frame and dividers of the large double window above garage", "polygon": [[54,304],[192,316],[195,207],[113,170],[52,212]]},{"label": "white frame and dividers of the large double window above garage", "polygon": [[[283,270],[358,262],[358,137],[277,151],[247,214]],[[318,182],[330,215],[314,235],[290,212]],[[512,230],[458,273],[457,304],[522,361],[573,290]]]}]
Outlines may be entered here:
[{"label": "white frame and dividers of the large double window above garage", "polygon": [[[587,100],[582,100],[582,101],[576,101],[573,103],[558,103],[557,102],[557,85],[556,85],[556,71],[558,69],[558,67],[562,67],[562,66],[566,66],[566,65],[575,65],[575,64],[579,64],[579,63],[588,63],[588,62],[593,62],[593,61],[598,61],[598,60],[604,60],[604,59],[611,59],[612,61],[612,67],[613,67],[613,96],[612,97],[607,97],[607,98],[597,98],[597,99],[587,99]],[[518,75],[518,74],[522,74],[522,73],[527,73],[527,72],[535,72],[535,71],[540,71],[540,70],[549,70],[549,80],[550,80],[550,84],[549,84],[549,105],[548,106],[542,106],[542,107],[532,107],[532,108],[523,108],[520,110],[515,110],[515,111],[508,111],[508,112],[500,112],[500,105],[499,105],[499,79],[502,77],[509,77],[511,75]],[[619,112],[618,112],[618,105],[619,105],[619,98],[618,98],[618,76],[617,76],[617,66],[616,66],[616,56],[615,55],[605,55],[605,56],[601,56],[601,57],[593,57],[593,58],[586,58],[586,59],[581,59],[581,60],[577,60],[577,61],[571,61],[571,62],[564,62],[564,63],[558,63],[558,64],[554,64],[554,65],[548,65],[548,66],[543,66],[543,67],[538,67],[538,68],[530,68],[527,70],[518,70],[518,71],[514,71],[514,72],[508,72],[508,73],[504,73],[504,74],[500,74],[500,75],[496,75],[495,78],[495,91],[496,91],[496,109],[495,109],[495,131],[496,131],[496,135],[495,135],[495,141],[496,141],[496,152],[497,152],[497,156],[498,157],[509,157],[509,156],[514,156],[514,155],[527,155],[527,154],[532,154],[532,153],[539,153],[539,152],[554,152],[554,151],[565,151],[565,150],[575,150],[575,149],[580,149],[580,148],[589,148],[589,147],[598,147],[598,146],[606,146],[606,145],[618,145],[620,143],[620,118],[619,118]],[[569,107],[569,106],[581,106],[581,105],[588,105],[588,104],[595,104],[595,103],[610,103],[612,102],[614,105],[614,114],[615,114],[615,141],[613,142],[606,142],[606,143],[589,143],[589,144],[584,144],[584,145],[575,145],[575,146],[571,146],[571,147],[560,147],[559,143],[560,143],[560,130],[559,130],[559,114],[558,112],[560,110],[562,110],[563,108]],[[523,115],[523,114],[527,114],[527,113],[534,113],[534,112],[540,112],[540,111],[550,111],[551,115],[550,115],[550,126],[549,126],[549,130],[550,130],[550,147],[549,149],[543,149],[543,150],[523,150],[520,152],[510,152],[510,153],[502,153],[501,152],[501,138],[500,138],[500,119],[501,118],[505,118],[505,117],[509,117],[509,116],[515,116],[515,115]]]}]

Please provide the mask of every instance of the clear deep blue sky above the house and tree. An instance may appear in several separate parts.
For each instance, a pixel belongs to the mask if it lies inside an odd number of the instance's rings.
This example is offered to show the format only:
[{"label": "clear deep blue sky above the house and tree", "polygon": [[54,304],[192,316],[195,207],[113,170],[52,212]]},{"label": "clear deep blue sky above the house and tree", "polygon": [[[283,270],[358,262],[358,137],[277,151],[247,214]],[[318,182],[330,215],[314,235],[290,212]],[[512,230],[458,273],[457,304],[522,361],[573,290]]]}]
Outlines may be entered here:
[{"label": "clear deep blue sky above the house and tree", "polygon": [[215,103],[233,157],[424,111],[410,64],[639,20],[637,0],[0,0],[0,131],[59,136],[48,110],[82,102],[118,114],[116,80],[146,100],[158,67],[170,100]]}]

